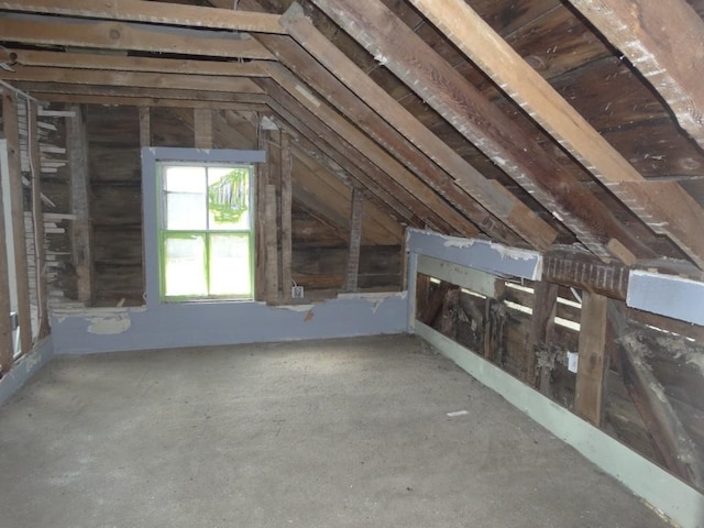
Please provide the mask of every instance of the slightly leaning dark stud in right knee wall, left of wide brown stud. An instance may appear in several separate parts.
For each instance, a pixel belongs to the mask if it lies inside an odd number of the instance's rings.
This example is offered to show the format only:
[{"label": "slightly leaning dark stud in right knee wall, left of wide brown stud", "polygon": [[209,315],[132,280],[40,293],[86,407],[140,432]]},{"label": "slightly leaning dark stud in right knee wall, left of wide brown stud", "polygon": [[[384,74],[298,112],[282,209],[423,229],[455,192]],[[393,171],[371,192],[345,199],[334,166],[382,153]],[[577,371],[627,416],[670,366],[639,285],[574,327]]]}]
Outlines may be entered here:
[{"label": "slightly leaning dark stud in right knee wall, left of wide brown stud", "polygon": [[532,318],[528,337],[528,358],[524,382],[536,386],[536,375],[539,375],[538,388],[544,395],[550,395],[550,369],[541,366],[537,370],[538,354],[549,353],[554,331],[554,314],[558,307],[558,285],[541,280],[536,284],[534,292]]}]

